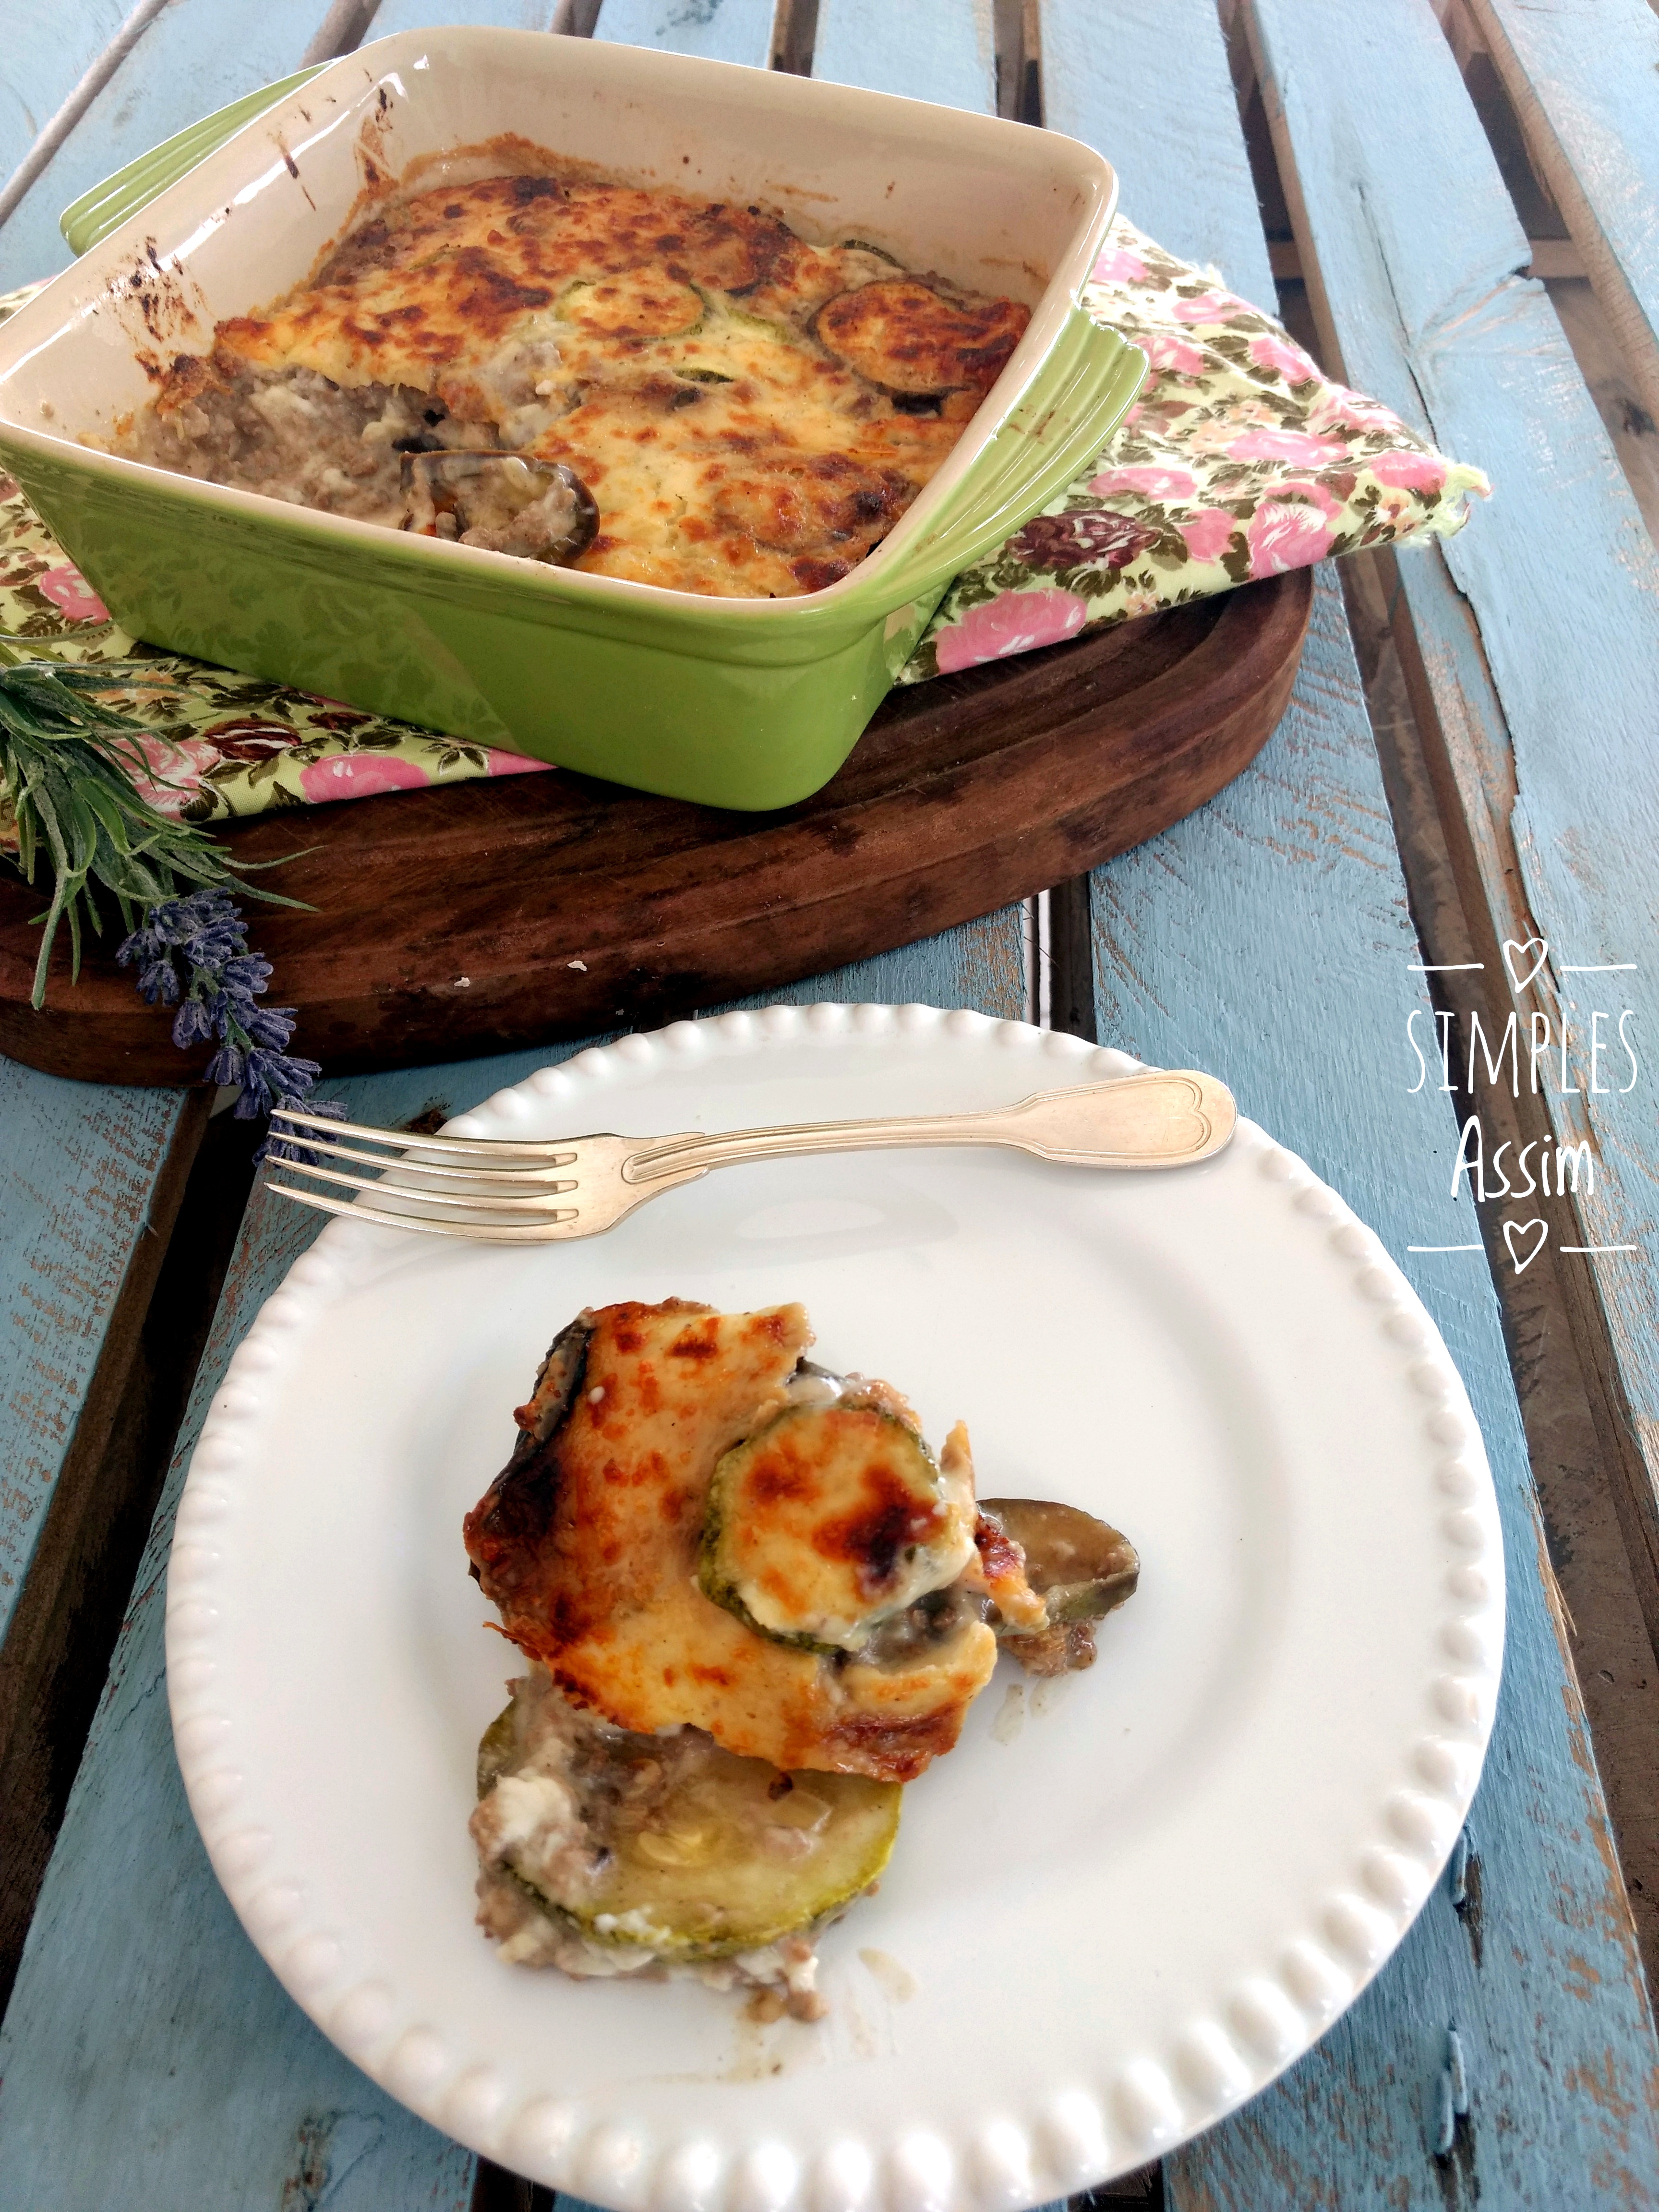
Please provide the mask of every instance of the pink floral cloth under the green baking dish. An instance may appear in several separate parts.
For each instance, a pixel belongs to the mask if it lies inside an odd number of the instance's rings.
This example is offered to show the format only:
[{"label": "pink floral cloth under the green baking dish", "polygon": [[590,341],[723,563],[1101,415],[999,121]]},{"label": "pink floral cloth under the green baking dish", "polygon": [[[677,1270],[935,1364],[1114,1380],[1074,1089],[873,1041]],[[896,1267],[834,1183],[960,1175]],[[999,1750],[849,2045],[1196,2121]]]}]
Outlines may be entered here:
[{"label": "pink floral cloth under the green baking dish", "polygon": [[[0,299],[0,319],[33,290]],[[1323,376],[1214,272],[1177,261],[1121,217],[1084,303],[1146,352],[1141,396],[1048,513],[951,584],[900,684],[1327,553],[1444,535],[1467,520],[1467,493],[1491,489],[1378,400]],[[135,641],[2,473],[0,644],[124,661],[106,703],[155,734],[146,796],[190,821],[546,765]],[[2,816],[0,794],[0,843]]]}]

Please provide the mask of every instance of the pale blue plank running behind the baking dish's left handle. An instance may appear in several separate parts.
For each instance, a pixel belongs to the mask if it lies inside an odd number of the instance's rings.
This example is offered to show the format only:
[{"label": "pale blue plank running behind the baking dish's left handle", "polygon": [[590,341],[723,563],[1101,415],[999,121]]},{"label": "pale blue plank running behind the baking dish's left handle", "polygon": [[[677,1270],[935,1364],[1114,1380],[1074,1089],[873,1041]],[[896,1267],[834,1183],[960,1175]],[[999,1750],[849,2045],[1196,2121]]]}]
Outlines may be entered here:
[{"label": "pale blue plank running behind the baking dish's left handle", "polygon": [[257,9],[173,0],[0,230],[0,290],[66,268],[58,215],[71,199],[197,117],[290,75],[325,13],[327,0],[261,0]]}]

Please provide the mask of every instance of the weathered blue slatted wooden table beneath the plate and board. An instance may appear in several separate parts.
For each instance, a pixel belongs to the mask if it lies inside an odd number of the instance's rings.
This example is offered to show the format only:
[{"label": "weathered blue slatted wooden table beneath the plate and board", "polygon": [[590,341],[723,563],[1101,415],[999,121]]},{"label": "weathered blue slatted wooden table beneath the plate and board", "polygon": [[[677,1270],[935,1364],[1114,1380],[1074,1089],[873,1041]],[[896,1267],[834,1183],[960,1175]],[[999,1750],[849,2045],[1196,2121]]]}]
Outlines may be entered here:
[{"label": "weathered blue slatted wooden table beneath the plate and board", "polygon": [[[1655,20],[1641,0],[1469,7],[1632,376],[1659,387]],[[1498,478],[1500,500],[1444,555],[1411,555],[1391,577],[1455,878],[1427,942],[1389,805],[1405,801],[1385,792],[1329,577],[1292,708],[1256,765],[1088,885],[1099,1040],[1223,1073],[1422,1292],[1486,1431],[1511,1586],[1493,1747],[1447,1880],[1316,2051],[1126,2188],[1181,2212],[1659,2203],[1659,2044],[1571,1624],[1540,1546],[1482,1228],[1467,1186],[1449,1197],[1453,1102],[1409,1088],[1405,1048],[1413,1015],[1429,1035],[1425,971],[1500,978],[1504,940],[1528,938],[1546,953],[1526,1013],[1588,1018],[1588,971],[1617,969],[1644,1051],[1659,1042],[1659,564],[1555,314],[1517,274],[1526,239],[1436,9],[139,0],[122,13],[106,0],[0,0],[0,288],[62,265],[58,210],[192,117],[365,35],[458,20],[1040,113],[1117,164],[1139,226],[1270,301],[1239,93],[1259,95],[1327,363]],[[1024,1018],[1046,998],[1033,958],[1048,911],[993,914],[790,995]],[[458,1113],[564,1051],[343,1091],[383,1124]],[[1659,1559],[1650,1102],[1646,1082],[1515,1102],[1537,1133],[1588,1137],[1604,1166],[1595,1190],[1551,1210],[1548,1263],[1595,1367],[1641,1590],[1641,1559],[1648,1575]],[[40,1765],[38,1655],[73,1650],[86,1562],[100,1557],[100,1475],[139,1402],[146,1321],[166,1329],[164,1254],[175,1223],[195,1219],[181,1194],[212,1141],[206,1104],[186,1093],[95,1091],[0,1064],[0,1630],[13,1630],[0,1776],[7,1761]],[[1498,1237],[1500,1214],[1484,1225]],[[27,1891],[29,1931],[4,2015],[0,2212],[526,2201],[290,2006],[208,1871],[173,1761],[161,1577],[181,1469],[230,1352],[310,1237],[310,1219],[274,1201],[246,1208],[84,1750],[49,1745],[73,1787],[66,1803],[42,1801],[46,1825],[62,1814],[44,1880],[35,1893],[27,1867],[4,1876]]]}]

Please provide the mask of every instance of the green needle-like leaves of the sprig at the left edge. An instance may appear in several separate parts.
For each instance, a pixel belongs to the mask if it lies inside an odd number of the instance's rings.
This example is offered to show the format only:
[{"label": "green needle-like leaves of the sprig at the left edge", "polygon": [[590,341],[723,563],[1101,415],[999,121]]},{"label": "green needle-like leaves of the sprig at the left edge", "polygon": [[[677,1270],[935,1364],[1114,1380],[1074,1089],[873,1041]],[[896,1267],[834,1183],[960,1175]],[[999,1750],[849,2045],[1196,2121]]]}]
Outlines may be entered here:
[{"label": "green needle-like leaves of the sprig at the left edge", "polygon": [[139,745],[142,723],[102,706],[95,690],[111,684],[111,666],[18,661],[0,646],[0,805],[15,818],[18,867],[35,880],[42,856],[51,865],[51,905],[42,922],[33,1004],[46,1002],[46,964],[62,922],[69,922],[71,980],[80,978],[82,918],[102,933],[93,885],[117,905],[133,931],[148,907],[188,887],[234,887],[279,907],[301,900],[248,883],[257,867],[234,869],[221,845],[175,821],[139,796],[133,779],[150,765]]}]

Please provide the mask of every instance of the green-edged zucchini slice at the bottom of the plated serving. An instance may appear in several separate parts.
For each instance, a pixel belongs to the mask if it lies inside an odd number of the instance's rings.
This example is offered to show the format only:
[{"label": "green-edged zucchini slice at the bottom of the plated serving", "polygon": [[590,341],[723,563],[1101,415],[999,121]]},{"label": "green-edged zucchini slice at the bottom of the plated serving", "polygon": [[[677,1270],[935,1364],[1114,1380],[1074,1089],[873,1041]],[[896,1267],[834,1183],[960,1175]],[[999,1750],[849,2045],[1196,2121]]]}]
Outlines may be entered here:
[{"label": "green-edged zucchini slice at the bottom of the plated serving", "polygon": [[628,1734],[542,1670],[513,1690],[478,1747],[484,1880],[511,1878],[588,1942],[641,1964],[759,1951],[841,1913],[887,1865],[898,1783],[781,1774],[690,1728]]}]

